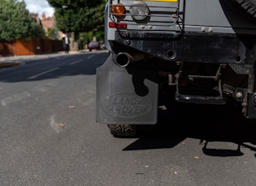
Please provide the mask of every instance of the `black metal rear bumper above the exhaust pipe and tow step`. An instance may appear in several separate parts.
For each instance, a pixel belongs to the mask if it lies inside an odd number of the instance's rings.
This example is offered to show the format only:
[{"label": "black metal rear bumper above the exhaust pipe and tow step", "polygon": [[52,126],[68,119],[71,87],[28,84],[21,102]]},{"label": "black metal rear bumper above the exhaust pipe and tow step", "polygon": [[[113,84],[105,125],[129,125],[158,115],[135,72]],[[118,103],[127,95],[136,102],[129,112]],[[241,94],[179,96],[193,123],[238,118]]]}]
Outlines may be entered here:
[{"label": "black metal rear bumper above the exhaust pipe and tow step", "polygon": [[[167,61],[250,64],[256,35],[116,32],[115,42]],[[120,50],[120,49],[118,49]],[[123,52],[123,51],[119,51]]]}]

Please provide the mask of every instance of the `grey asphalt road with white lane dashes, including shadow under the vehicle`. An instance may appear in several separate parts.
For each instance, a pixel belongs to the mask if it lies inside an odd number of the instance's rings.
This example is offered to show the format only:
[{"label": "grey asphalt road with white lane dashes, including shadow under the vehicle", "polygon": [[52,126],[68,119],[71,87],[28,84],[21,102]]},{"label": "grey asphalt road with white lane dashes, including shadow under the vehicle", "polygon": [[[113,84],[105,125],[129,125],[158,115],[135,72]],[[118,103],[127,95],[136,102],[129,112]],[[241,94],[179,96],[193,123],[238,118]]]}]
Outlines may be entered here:
[{"label": "grey asphalt road with white lane dashes, including shadow under the vehicle", "polygon": [[0,185],[256,184],[256,122],[240,108],[163,98],[158,124],[141,126],[139,137],[96,124],[95,70],[106,56],[0,70]]}]

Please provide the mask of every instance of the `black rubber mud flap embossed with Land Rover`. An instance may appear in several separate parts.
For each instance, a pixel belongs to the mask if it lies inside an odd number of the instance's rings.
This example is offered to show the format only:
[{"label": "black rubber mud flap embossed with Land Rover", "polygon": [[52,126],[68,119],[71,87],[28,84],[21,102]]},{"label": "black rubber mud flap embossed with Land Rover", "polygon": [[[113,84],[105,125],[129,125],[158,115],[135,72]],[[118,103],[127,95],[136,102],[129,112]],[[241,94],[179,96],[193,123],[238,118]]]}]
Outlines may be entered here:
[{"label": "black rubber mud flap embossed with Land Rover", "polygon": [[156,124],[158,83],[156,70],[119,67],[112,57],[97,69],[96,122],[98,124]]}]

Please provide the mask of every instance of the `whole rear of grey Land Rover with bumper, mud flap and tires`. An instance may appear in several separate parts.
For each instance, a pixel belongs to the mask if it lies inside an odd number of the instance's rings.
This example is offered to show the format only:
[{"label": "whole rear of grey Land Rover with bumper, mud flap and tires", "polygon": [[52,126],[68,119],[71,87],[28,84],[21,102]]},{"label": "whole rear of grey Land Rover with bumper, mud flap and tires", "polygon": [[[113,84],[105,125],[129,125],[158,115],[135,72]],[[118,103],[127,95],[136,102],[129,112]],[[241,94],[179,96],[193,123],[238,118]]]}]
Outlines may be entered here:
[{"label": "whole rear of grey Land Rover with bumper, mud flap and tires", "polygon": [[156,124],[167,90],[177,102],[231,100],[256,118],[256,0],[109,0],[105,43],[96,121],[115,137]]}]

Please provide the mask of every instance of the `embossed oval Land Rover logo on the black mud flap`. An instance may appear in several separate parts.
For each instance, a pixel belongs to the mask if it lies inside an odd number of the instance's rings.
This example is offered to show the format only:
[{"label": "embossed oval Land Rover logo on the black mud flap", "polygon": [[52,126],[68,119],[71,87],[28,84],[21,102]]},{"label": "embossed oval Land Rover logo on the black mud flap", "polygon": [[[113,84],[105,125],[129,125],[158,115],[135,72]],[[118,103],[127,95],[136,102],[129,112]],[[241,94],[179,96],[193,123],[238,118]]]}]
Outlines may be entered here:
[{"label": "embossed oval Land Rover logo on the black mud flap", "polygon": [[102,103],[103,110],[111,116],[133,118],[150,112],[148,97],[135,94],[116,94],[106,97]]}]

